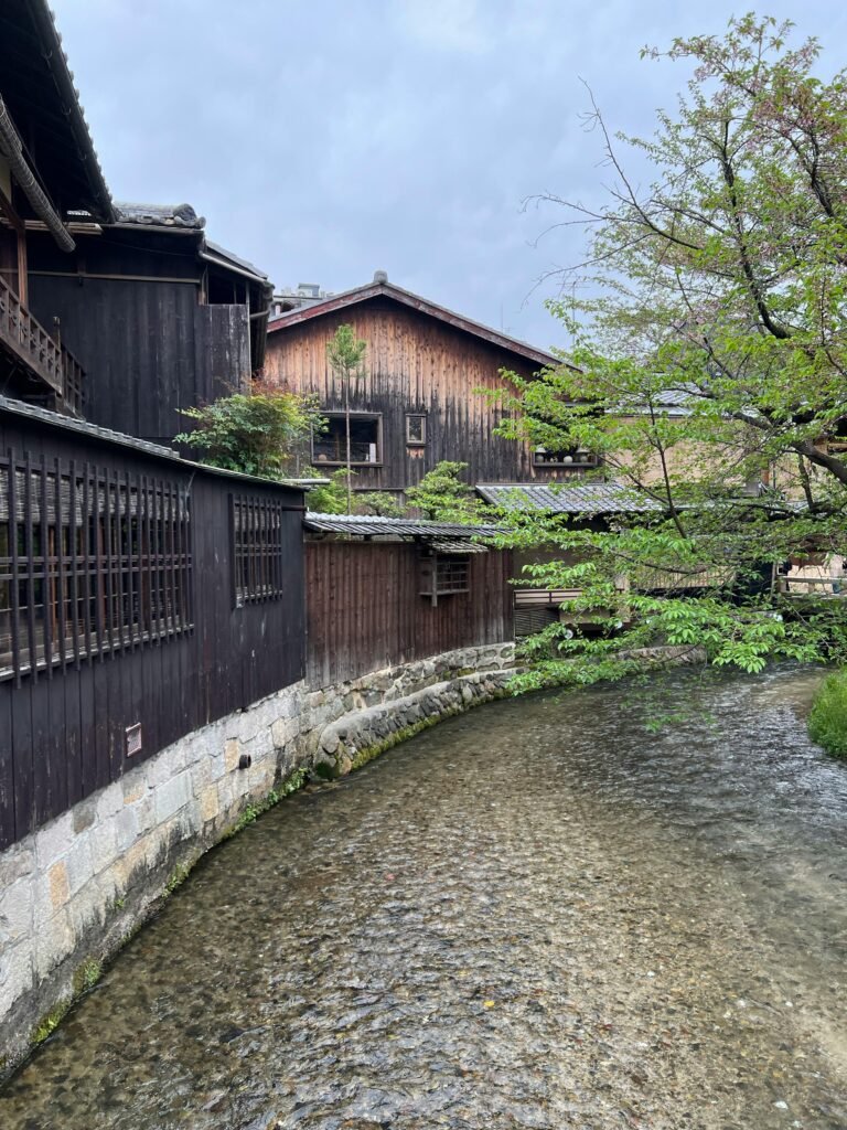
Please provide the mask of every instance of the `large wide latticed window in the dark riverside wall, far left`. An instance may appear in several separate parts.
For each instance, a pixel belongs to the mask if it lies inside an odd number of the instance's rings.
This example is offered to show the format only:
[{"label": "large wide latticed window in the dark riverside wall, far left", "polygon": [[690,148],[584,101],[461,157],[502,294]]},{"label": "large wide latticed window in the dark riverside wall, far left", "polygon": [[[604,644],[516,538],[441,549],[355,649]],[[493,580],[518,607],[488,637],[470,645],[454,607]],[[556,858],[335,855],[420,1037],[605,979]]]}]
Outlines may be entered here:
[{"label": "large wide latticed window in the dark riverside wall, far left", "polygon": [[191,626],[183,485],[0,459],[0,678],[51,675]]}]

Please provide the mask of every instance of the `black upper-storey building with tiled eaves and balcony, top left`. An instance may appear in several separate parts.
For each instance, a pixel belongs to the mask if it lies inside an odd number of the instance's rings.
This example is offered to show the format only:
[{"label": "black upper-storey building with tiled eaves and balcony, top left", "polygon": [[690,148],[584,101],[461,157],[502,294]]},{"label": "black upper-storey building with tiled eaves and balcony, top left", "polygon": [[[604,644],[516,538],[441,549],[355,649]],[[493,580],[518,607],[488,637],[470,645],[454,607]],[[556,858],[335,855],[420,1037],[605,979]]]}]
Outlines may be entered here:
[{"label": "black upper-storey building with tiled eaves and balcony, top left", "polygon": [[0,393],[169,442],[261,368],[271,287],[189,205],[113,202],[44,0],[0,12]]}]

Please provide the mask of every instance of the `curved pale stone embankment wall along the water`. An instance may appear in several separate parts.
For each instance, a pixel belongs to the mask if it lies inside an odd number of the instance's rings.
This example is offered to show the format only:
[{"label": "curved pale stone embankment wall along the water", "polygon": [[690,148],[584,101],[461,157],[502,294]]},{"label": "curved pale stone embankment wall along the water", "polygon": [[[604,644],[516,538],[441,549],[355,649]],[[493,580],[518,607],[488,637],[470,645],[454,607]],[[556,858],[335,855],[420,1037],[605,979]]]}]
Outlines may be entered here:
[{"label": "curved pale stone embankment wall along the water", "polygon": [[497,697],[514,647],[286,687],[203,727],[0,854],[0,1077],[58,1023],[195,860],[306,773],[350,772]]}]

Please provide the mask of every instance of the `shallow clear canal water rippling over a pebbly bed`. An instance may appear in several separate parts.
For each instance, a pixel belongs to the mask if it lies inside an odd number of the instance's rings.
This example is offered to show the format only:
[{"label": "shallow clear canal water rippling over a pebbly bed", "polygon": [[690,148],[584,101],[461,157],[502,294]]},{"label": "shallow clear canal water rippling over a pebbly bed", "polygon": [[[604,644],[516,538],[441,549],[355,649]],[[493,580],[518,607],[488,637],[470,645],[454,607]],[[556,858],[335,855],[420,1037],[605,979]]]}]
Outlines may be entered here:
[{"label": "shallow clear canal water rippling over a pebbly bed", "polygon": [[845,1130],[847,766],[805,737],[818,679],[509,699],[287,800],[0,1125]]}]

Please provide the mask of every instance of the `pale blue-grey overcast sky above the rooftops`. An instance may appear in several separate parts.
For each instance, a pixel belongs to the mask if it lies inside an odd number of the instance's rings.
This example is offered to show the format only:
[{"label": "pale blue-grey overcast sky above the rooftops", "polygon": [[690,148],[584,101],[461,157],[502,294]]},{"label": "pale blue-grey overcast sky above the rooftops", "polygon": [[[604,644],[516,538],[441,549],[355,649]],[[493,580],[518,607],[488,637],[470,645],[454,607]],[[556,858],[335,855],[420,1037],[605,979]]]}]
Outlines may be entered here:
[{"label": "pale blue-grey overcast sky above the rooftops", "polygon": [[[578,260],[545,191],[609,179],[579,114],[652,131],[686,81],[645,44],[719,33],[726,0],[52,0],[117,200],[187,201],[278,287],[392,281],[540,347],[536,280]],[[770,0],[847,56],[842,0]],[[801,15],[803,12],[803,15]]]}]

